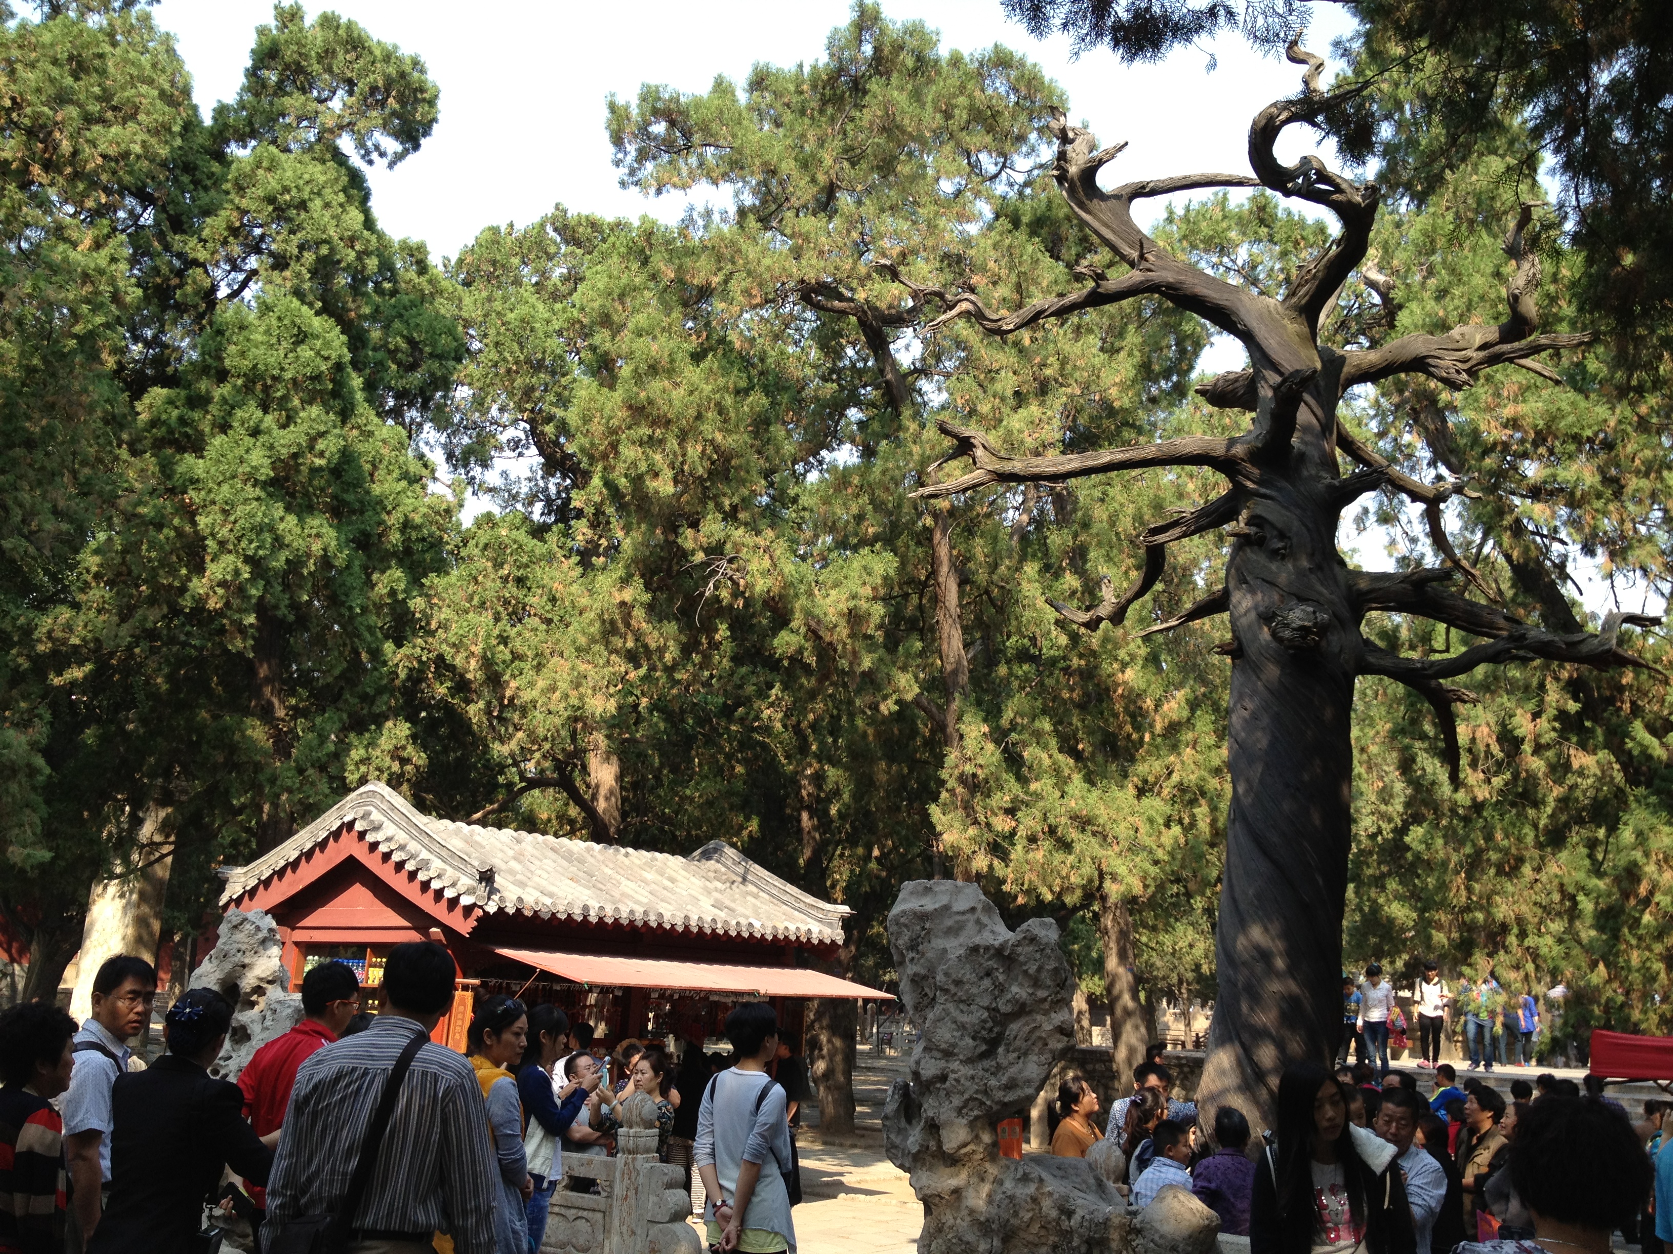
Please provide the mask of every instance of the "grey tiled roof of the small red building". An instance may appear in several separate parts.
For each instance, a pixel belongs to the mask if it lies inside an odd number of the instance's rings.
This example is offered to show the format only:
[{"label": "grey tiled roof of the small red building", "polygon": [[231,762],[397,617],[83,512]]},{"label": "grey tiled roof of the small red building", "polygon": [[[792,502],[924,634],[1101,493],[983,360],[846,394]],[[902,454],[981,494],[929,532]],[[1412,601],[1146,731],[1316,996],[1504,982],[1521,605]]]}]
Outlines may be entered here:
[{"label": "grey tiled roof of the small red building", "polygon": [[483,915],[836,945],[843,916],[852,913],[785,883],[724,841],[681,858],[480,828],[420,814],[385,784],[355,789],[279,848],[248,866],[224,868],[221,905],[233,905],[345,826],[413,871],[420,884]]}]

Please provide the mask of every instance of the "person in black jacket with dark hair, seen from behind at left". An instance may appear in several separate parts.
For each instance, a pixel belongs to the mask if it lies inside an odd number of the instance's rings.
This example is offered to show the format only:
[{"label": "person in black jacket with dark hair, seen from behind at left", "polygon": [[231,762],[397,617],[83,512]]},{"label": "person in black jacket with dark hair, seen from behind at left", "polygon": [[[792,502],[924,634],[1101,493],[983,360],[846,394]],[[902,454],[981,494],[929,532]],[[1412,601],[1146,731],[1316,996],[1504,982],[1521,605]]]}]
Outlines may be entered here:
[{"label": "person in black jacket with dark hair, seen from behind at left", "polygon": [[191,1254],[223,1167],[268,1182],[273,1149],[244,1120],[244,1095],[209,1075],[231,1022],[226,998],[192,988],[169,1010],[169,1052],[117,1077],[110,1204],[87,1254]]}]

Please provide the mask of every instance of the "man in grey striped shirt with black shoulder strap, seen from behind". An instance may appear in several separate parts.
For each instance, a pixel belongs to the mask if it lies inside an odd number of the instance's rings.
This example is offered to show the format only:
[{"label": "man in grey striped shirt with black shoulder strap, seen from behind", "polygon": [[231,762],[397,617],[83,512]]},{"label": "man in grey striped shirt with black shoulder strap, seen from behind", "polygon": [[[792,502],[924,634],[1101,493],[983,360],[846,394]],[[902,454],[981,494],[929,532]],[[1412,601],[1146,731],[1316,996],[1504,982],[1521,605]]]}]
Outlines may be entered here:
[{"label": "man in grey striped shirt with black shoulder strap, seen from behind", "polygon": [[[365,1032],[301,1065],[268,1180],[263,1242],[304,1216],[331,1214],[348,1190],[366,1124],[413,1033],[430,1035],[453,1002],[453,960],[440,945],[390,950],[383,1010]],[[457,1254],[494,1254],[497,1159],[470,1062],[425,1045],[402,1085],[365,1197],[350,1216],[356,1254],[428,1254],[448,1232]]]}]

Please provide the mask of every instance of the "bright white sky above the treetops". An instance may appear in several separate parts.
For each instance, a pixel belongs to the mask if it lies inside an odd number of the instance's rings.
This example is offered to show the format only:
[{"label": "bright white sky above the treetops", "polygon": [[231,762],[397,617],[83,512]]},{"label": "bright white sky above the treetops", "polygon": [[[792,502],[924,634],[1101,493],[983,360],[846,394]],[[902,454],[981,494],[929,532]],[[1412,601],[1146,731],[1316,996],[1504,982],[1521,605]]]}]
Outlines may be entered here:
[{"label": "bright white sky above the treetops", "polygon": [[[308,3],[310,17],[325,5]],[[611,92],[632,99],[646,82],[708,90],[716,75],[741,82],[756,62],[793,65],[823,55],[831,27],[848,20],[847,0],[711,0],[624,5],[572,0],[495,0],[462,8],[453,0],[341,0],[333,5],[376,38],[423,57],[442,87],[442,120],[417,155],[371,176],[383,229],[455,256],[482,227],[530,222],[554,204],[609,216],[644,212],[673,221],[686,201],[647,201],[622,191],[604,134]],[[1109,54],[1069,60],[1067,40],[1036,42],[1004,18],[999,0],[883,0],[895,20],[920,18],[944,47],[1005,43],[1061,82],[1071,115],[1101,144],[1131,147],[1111,167],[1118,177],[1248,172],[1248,124],[1268,102],[1293,95],[1300,67],[1258,57],[1241,40],[1188,48],[1163,65],[1123,69]],[[258,0],[162,0],[157,22],[179,37],[197,104],[236,95],[256,25],[273,7]],[[1347,30],[1337,5],[1315,7],[1318,52]],[[1208,54],[1220,59],[1206,74]],[[1293,159],[1310,142],[1288,139]]]}]

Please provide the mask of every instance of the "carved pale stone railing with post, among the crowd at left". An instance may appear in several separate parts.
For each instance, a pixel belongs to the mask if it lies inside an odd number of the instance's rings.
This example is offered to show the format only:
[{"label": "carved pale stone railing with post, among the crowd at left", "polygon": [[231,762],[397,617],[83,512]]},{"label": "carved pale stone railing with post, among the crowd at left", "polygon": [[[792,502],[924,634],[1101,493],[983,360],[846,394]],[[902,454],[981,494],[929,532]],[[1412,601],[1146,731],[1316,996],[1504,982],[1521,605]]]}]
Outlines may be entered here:
[{"label": "carved pale stone railing with post, among the crowd at left", "polygon": [[[599,1192],[572,1192],[570,1180]],[[656,1104],[644,1093],[622,1102],[616,1157],[564,1155],[564,1179],[552,1194],[542,1254],[701,1254],[686,1222],[691,1197],[684,1172],[656,1157]]]}]

